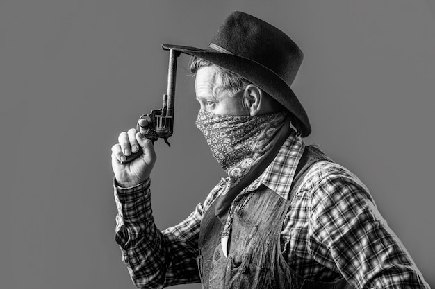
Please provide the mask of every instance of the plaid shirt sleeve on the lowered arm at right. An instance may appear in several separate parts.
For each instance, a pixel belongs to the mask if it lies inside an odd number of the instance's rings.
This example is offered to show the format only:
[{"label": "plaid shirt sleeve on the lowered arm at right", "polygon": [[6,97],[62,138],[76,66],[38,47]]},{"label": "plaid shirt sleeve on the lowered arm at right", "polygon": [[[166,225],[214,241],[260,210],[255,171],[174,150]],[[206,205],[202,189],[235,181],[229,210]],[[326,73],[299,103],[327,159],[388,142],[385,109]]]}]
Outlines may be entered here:
[{"label": "plaid shirt sleeve on the lowered arm at right", "polygon": [[352,287],[429,288],[354,175],[329,173],[320,181],[309,226],[315,260],[340,272]]}]

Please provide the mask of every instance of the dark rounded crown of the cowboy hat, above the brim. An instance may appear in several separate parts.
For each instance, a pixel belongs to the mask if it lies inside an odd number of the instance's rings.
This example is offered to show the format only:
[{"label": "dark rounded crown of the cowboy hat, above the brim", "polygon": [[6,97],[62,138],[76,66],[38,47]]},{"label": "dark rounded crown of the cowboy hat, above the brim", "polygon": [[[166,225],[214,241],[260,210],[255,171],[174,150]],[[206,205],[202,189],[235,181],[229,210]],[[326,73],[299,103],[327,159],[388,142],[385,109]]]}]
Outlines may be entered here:
[{"label": "dark rounded crown of the cowboy hat, above the brim", "polygon": [[302,63],[299,47],[278,28],[243,12],[233,12],[217,30],[210,47],[257,62],[288,85]]}]

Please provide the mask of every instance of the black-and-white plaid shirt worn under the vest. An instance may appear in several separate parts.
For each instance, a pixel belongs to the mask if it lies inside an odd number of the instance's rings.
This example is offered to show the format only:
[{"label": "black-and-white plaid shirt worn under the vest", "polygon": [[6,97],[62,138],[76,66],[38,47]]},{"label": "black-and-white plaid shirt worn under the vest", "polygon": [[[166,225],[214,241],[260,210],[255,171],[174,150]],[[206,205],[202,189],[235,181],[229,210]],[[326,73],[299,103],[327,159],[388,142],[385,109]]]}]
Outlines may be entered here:
[{"label": "black-and-white plaid shirt worn under the vest", "polygon": [[[259,186],[288,199],[303,150],[304,142],[292,133],[264,173],[233,200],[226,227]],[[149,179],[126,189],[115,184],[115,240],[136,286],[199,282],[199,226],[226,182],[221,179],[186,220],[164,231],[154,225]],[[281,245],[290,268],[306,279],[344,277],[354,288],[429,288],[366,186],[338,164],[321,161],[306,175],[282,224]]]}]

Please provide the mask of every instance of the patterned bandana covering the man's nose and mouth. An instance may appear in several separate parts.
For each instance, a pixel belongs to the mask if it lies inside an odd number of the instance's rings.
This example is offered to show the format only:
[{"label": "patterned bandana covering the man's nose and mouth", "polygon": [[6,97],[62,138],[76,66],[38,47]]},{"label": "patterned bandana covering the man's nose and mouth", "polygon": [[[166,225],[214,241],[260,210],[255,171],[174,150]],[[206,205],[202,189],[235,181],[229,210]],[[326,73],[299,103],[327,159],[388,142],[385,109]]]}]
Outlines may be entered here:
[{"label": "patterned bandana covering the man's nose and mouth", "polygon": [[206,138],[213,157],[229,173],[240,178],[270,148],[270,141],[286,119],[285,112],[260,116],[220,115],[199,110],[196,125]]}]

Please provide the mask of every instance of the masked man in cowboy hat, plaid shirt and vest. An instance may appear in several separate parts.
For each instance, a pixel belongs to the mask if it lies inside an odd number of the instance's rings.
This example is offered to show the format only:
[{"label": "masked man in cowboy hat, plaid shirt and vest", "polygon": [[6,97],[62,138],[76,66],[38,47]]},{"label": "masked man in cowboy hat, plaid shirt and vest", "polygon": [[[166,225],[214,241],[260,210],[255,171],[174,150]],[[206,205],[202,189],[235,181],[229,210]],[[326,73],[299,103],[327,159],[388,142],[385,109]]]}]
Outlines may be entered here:
[{"label": "masked man in cowboy hat, plaid shirt and vest", "polygon": [[[274,26],[233,12],[192,55],[197,127],[228,173],[190,216],[158,231],[141,132],[113,146],[116,240],[136,286],[429,288],[366,186],[318,148],[290,89],[302,51]],[[131,152],[143,154],[121,164]]]}]

